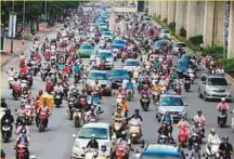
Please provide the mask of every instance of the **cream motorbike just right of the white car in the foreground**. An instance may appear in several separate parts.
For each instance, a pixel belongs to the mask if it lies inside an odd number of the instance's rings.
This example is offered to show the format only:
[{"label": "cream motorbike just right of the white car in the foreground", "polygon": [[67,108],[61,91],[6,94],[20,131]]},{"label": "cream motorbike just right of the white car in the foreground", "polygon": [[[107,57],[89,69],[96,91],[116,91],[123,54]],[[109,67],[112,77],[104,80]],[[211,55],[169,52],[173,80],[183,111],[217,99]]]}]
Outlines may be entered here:
[{"label": "cream motorbike just right of the white car in the foreground", "polygon": [[114,121],[113,132],[115,133],[116,138],[120,138],[120,137],[126,138],[126,131],[122,131],[125,130],[122,122],[123,121],[119,119],[115,119]]}]

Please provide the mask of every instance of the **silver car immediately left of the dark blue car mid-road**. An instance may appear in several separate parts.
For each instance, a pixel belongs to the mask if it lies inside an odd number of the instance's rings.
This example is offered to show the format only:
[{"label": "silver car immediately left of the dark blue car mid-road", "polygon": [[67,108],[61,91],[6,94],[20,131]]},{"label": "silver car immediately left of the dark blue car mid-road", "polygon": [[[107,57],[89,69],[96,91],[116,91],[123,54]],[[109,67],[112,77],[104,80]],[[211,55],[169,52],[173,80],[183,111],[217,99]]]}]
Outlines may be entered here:
[{"label": "silver car immediately left of the dark blue car mid-road", "polygon": [[95,84],[95,80],[99,80],[103,92],[103,95],[112,96],[112,82],[109,80],[109,76],[105,70],[90,70],[86,81],[87,92],[90,93],[92,91],[92,87]]}]

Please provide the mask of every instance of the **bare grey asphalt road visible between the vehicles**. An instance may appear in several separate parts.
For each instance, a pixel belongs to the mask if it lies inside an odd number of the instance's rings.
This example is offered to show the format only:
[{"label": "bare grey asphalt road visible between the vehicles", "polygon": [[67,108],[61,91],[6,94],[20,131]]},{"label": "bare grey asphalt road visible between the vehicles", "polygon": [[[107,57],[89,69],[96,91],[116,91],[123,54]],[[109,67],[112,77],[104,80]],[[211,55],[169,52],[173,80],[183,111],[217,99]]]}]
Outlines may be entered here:
[{"label": "bare grey asphalt road visible between the vehicles", "polygon": [[[50,34],[49,38],[54,38],[55,32]],[[27,52],[27,54],[29,54]],[[14,101],[8,88],[8,76],[5,71],[10,68],[11,65],[16,66],[16,58],[12,59],[3,69],[1,76],[1,95],[6,100],[9,107],[12,109],[12,112],[15,108],[20,106],[20,100]],[[116,64],[119,65],[119,62]],[[202,70],[197,72],[200,75],[205,71],[203,67]],[[214,128],[217,133],[220,137],[224,135],[230,136],[230,142],[234,143],[234,135],[232,133],[232,129],[230,128],[231,119],[229,118],[227,128],[220,129],[217,124],[217,110],[216,106],[218,102],[205,102],[204,100],[198,98],[197,95],[197,82],[191,88],[191,92],[185,93],[182,92],[182,96],[185,103],[188,104],[188,118],[191,119],[198,108],[203,110],[205,117],[207,119],[207,129],[206,132],[210,128]],[[38,74],[37,77],[34,78],[34,85],[31,92],[34,95],[37,94],[39,89],[44,90],[44,83],[41,81],[40,76]],[[135,91],[136,92],[136,91]],[[130,105],[130,114],[133,109],[139,108],[140,106],[140,96],[136,94],[134,100],[129,103]],[[115,103],[115,97],[104,97],[102,101],[102,108],[104,109],[104,114],[102,115],[101,121],[110,122],[112,121],[112,112],[113,107],[112,105]],[[231,104],[232,105],[232,104]],[[233,106],[231,106],[233,108]],[[54,108],[52,116],[49,119],[49,128],[46,132],[39,133],[38,129],[35,124],[30,125],[30,146],[29,151],[31,155],[35,155],[37,159],[68,159],[72,153],[72,146],[74,138],[72,137],[73,134],[78,133],[79,129],[75,129],[72,121],[66,118],[66,102],[63,102],[63,106],[61,108]],[[157,129],[158,123],[155,118],[156,114],[156,105],[151,104],[148,111],[141,111],[143,117],[143,137],[145,141],[151,143],[156,143],[157,141]],[[230,116],[229,116],[230,117]],[[174,131],[174,135],[177,132]],[[207,134],[208,135],[208,134]],[[176,137],[176,136],[174,136]],[[10,143],[3,143],[2,148],[6,153],[8,159],[13,159],[14,157],[14,149],[13,144],[16,138],[16,135],[13,134],[13,137]],[[204,140],[206,141],[206,138]]]}]

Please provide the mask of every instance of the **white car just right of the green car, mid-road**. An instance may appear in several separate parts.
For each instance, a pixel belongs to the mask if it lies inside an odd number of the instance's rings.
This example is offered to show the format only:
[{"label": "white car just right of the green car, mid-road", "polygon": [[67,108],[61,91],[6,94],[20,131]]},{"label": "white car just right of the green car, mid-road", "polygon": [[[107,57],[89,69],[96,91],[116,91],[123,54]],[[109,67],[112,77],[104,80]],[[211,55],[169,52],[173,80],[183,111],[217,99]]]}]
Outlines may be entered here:
[{"label": "white car just right of the green car, mid-road", "polygon": [[105,57],[106,58],[106,68],[107,69],[112,69],[114,67],[114,55],[112,53],[112,51],[109,50],[98,50],[98,54],[96,54],[96,65],[100,64],[100,58]]}]

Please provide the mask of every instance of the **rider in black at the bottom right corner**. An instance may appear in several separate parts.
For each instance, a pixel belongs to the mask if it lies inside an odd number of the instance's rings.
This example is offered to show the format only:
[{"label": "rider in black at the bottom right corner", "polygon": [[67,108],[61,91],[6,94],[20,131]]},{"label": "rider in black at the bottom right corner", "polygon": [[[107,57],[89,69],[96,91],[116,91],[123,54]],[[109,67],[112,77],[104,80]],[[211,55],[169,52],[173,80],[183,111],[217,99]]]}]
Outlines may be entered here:
[{"label": "rider in black at the bottom right corner", "polygon": [[222,143],[220,144],[219,146],[219,151],[221,153],[225,153],[225,159],[231,159],[232,156],[231,155],[234,155],[233,153],[233,146],[232,144],[229,143],[229,137],[227,136],[224,136],[222,138]]}]

